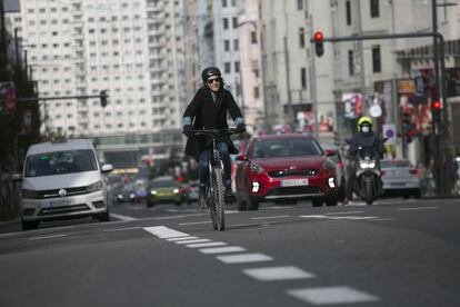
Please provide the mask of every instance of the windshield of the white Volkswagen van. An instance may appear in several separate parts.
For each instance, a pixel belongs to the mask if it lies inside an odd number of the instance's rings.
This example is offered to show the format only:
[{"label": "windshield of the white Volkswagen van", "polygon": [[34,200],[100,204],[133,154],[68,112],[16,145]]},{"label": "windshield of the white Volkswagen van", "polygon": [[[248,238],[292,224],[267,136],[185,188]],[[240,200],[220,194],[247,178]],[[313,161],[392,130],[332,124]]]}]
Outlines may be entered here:
[{"label": "windshield of the white Volkswagen van", "polygon": [[26,161],[26,177],[62,175],[97,170],[94,154],[90,149],[32,155]]}]

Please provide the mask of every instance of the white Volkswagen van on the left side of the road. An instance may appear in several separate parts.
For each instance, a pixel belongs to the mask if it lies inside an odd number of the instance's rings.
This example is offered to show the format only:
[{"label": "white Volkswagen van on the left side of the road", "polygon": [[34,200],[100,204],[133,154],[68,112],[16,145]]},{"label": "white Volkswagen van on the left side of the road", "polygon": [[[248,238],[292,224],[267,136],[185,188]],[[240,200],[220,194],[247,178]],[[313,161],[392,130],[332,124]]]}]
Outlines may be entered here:
[{"label": "white Volkswagen van on the left side of the road", "polygon": [[37,228],[40,220],[92,216],[108,221],[107,179],[113,169],[99,165],[90,140],[73,139],[32,145],[26,155],[22,176],[22,229]]}]

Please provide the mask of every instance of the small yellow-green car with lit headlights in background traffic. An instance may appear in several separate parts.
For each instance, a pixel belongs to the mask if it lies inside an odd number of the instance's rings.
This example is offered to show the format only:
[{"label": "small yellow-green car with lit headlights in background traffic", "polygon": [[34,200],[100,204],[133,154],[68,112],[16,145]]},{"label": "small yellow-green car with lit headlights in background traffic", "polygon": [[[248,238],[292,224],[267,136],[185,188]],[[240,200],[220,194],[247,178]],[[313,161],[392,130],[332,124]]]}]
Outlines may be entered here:
[{"label": "small yellow-green car with lit headlights in background traffic", "polygon": [[168,201],[177,206],[182,205],[184,189],[173,177],[162,176],[153,179],[148,190],[147,207]]}]

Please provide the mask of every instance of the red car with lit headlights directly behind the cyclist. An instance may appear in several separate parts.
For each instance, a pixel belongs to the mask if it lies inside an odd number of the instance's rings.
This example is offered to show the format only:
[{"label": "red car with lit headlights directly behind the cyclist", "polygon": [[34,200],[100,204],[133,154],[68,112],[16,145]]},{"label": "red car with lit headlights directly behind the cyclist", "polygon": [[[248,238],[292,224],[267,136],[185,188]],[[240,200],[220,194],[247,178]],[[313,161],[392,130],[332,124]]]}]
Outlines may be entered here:
[{"label": "red car with lit headlights directly behind the cyclist", "polygon": [[336,166],[320,145],[306,135],[271,135],[252,138],[247,155],[237,157],[237,205],[257,210],[261,201],[307,198],[313,206],[336,206]]}]

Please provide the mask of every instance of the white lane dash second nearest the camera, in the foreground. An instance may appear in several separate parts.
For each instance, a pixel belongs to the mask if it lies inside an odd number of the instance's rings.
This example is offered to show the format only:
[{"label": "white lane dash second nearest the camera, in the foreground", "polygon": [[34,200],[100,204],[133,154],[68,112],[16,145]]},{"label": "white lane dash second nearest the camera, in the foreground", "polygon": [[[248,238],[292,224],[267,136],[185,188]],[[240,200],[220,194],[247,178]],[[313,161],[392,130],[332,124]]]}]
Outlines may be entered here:
[{"label": "white lane dash second nearest the camera, in the foreground", "polygon": [[243,273],[260,281],[303,279],[314,277],[314,275],[311,273],[292,266],[243,269]]}]

